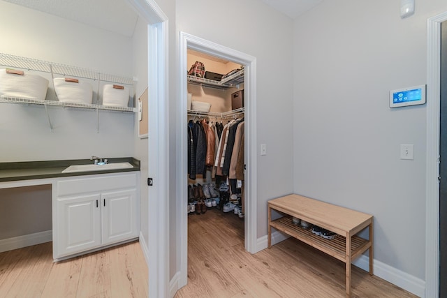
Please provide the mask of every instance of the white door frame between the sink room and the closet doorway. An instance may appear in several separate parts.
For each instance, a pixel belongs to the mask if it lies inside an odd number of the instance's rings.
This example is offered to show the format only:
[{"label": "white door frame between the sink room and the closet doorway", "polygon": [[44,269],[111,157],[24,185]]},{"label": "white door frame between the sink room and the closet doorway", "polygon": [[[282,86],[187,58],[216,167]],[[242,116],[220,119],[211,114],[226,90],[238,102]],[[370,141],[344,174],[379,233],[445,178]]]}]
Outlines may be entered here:
[{"label": "white door frame between the sink room and the closet doorway", "polygon": [[147,22],[149,297],[169,297],[168,17],[154,0],[127,1]]}]

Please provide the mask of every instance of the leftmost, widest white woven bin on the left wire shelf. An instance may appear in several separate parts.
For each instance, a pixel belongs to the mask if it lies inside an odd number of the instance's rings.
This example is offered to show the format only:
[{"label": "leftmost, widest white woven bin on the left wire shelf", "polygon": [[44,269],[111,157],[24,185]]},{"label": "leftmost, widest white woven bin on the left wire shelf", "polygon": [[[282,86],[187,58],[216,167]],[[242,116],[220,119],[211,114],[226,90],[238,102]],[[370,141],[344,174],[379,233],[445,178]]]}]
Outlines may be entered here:
[{"label": "leftmost, widest white woven bin on the left wire shelf", "polygon": [[48,80],[22,70],[0,69],[0,96],[44,100]]}]

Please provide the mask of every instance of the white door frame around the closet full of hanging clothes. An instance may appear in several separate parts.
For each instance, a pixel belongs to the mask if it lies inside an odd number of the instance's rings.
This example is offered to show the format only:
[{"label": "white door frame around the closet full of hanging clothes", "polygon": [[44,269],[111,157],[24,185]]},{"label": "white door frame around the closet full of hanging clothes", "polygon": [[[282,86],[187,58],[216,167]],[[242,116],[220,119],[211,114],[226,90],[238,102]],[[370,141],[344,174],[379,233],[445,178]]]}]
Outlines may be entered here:
[{"label": "white door frame around the closet full of hanging clothes", "polygon": [[192,36],[189,33],[180,32],[179,47],[179,104],[177,105],[178,132],[177,144],[179,144],[179,171],[177,174],[177,256],[179,257],[179,288],[186,285],[188,281],[188,216],[186,208],[187,198],[187,133],[186,114],[187,103],[187,50],[197,50],[210,54],[214,57],[233,61],[244,65],[244,104],[245,104],[245,249],[250,253],[257,252],[257,155],[256,155],[256,57],[238,52],[212,43],[203,38]]}]

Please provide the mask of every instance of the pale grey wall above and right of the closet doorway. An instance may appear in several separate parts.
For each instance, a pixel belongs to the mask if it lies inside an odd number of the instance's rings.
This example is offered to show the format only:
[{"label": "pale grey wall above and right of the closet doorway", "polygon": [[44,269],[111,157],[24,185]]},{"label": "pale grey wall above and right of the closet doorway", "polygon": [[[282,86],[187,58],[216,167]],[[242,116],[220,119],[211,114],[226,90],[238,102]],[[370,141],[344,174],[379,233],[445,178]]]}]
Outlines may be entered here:
[{"label": "pale grey wall above and right of the closet doorway", "polygon": [[178,31],[257,59],[258,144],[254,145],[267,144],[268,151],[267,156],[258,156],[258,181],[254,181],[257,237],[263,237],[267,234],[267,201],[293,191],[292,21],[256,0],[177,1],[176,12]]}]

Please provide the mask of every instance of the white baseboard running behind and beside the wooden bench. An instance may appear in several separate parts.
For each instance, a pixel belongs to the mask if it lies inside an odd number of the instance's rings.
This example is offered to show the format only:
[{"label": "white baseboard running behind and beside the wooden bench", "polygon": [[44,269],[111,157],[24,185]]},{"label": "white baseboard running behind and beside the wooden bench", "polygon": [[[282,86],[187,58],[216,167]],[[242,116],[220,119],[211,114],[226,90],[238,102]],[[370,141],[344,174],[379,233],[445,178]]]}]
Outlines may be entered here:
[{"label": "white baseboard running behind and beside the wooden bench", "polygon": [[[286,240],[288,235],[281,232],[272,232],[272,245]],[[258,238],[256,242],[256,251],[262,251],[267,248],[268,237],[267,235]],[[369,270],[369,258],[366,255],[361,255],[360,258],[352,262],[353,265],[368,271]],[[374,259],[374,275],[378,276],[385,281],[393,283],[398,287],[417,295],[418,297],[425,298],[425,281],[407,274],[404,271],[395,269],[383,262]]]}]

